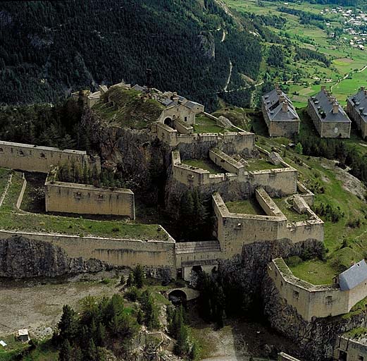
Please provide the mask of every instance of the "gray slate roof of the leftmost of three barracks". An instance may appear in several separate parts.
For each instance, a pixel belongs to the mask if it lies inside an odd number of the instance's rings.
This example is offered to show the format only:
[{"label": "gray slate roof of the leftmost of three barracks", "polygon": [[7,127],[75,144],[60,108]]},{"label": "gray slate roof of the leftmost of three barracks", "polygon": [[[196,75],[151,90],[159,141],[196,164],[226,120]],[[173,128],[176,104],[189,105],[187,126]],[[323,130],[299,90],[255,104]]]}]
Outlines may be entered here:
[{"label": "gray slate roof of the leftmost of three barracks", "polygon": [[[285,102],[288,103],[287,112],[282,111],[282,102],[279,101],[280,97],[284,97]],[[292,101],[284,92],[278,95],[277,90],[274,89],[263,95],[262,99],[270,121],[299,121],[299,116],[296,109],[294,109]]]}]

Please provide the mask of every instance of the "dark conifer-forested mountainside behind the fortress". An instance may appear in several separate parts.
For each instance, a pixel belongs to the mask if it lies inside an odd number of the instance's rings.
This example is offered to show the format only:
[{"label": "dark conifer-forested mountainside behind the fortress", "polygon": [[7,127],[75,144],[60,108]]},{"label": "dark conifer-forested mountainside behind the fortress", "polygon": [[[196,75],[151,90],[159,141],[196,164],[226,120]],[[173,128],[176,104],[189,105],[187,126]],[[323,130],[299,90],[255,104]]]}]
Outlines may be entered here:
[{"label": "dark conifer-forested mountainside behind the fortress", "polygon": [[[233,86],[256,79],[253,30],[250,20],[239,29],[214,0],[2,1],[0,102],[55,102],[122,79],[144,84],[151,68],[154,87],[213,109],[230,61]],[[231,97],[246,103],[249,90]]]}]

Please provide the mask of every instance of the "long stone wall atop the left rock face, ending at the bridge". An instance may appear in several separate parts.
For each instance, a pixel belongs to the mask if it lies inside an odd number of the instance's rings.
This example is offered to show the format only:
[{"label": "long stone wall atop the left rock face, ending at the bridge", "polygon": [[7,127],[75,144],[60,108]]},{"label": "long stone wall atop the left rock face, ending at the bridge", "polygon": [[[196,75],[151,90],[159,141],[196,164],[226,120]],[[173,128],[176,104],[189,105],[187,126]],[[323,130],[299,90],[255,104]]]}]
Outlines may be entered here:
[{"label": "long stone wall atop the left rock face, ending at the bridge", "polygon": [[153,268],[170,267],[175,275],[174,240],[122,240],[18,231],[0,231],[0,239],[10,238],[14,234],[57,245],[63,248],[69,257],[97,258],[115,266],[125,267],[135,267],[137,264]]}]

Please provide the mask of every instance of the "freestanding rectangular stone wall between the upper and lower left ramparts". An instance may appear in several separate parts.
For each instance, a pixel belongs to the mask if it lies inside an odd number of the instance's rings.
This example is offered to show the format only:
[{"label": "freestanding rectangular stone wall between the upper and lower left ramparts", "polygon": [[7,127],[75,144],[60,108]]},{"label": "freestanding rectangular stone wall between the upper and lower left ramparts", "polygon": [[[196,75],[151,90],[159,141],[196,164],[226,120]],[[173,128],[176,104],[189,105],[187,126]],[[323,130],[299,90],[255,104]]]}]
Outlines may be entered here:
[{"label": "freestanding rectangular stone wall between the upper and lower left ramparts", "polygon": [[46,181],[45,190],[46,212],[113,214],[135,219],[134,193],[130,189]]}]

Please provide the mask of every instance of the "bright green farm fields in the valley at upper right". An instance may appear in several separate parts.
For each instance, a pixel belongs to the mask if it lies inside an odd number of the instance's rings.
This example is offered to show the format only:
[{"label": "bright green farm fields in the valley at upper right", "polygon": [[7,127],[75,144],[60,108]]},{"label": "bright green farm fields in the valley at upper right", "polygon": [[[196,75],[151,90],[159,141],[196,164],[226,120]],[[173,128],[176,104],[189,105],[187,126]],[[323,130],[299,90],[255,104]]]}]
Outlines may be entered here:
[{"label": "bright green farm fields in the valley at upper right", "polygon": [[[332,5],[321,4],[283,4],[270,1],[225,0],[228,8],[239,13],[252,13],[256,16],[279,16],[286,20],[283,27],[268,25],[268,29],[278,35],[284,45],[266,42],[266,48],[275,44],[285,49],[285,61],[282,67],[268,66],[263,68],[259,80],[274,78],[273,82],[283,85],[292,98],[294,106],[306,106],[307,98],[316,94],[321,85],[331,88],[332,93],[342,105],[346,99],[356,93],[361,86],[367,86],[367,50],[353,47],[349,42],[355,37],[342,32],[339,37],[333,36],[335,29],[345,28],[340,13],[331,13]],[[292,11],[302,11],[320,16],[323,20],[305,23],[300,16],[280,11],[280,7]],[[335,5],[334,5],[335,7]],[[328,9],[328,13],[325,13]],[[349,25],[348,25],[349,26]],[[291,46],[290,46],[291,44]],[[323,63],[319,59],[298,59],[294,61],[296,47],[317,51],[330,61]],[[364,69],[364,70],[363,70]],[[363,70],[363,71],[361,71]],[[357,73],[358,71],[358,73]]]}]

